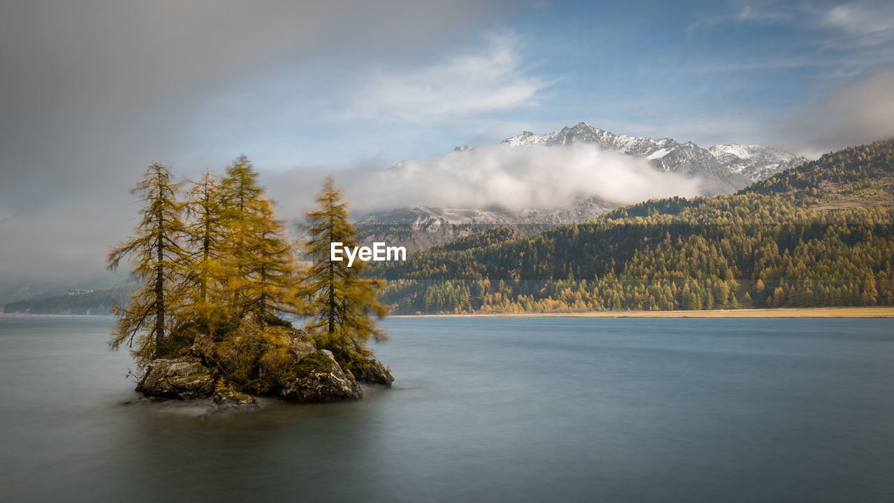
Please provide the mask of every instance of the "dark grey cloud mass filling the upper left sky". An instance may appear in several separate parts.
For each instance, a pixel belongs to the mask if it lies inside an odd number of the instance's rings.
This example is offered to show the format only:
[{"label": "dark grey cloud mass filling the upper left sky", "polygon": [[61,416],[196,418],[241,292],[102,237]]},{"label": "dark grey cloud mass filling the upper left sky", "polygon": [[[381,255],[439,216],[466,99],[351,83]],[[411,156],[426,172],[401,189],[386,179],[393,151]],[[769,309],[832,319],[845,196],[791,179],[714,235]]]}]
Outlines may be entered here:
[{"label": "dark grey cloud mass filling the upper left sky", "polygon": [[[131,234],[136,208],[128,191],[150,162],[184,175],[220,169],[270,135],[257,109],[208,124],[211,97],[250,93],[283,72],[326,87],[330,81],[307,72],[313,62],[343,69],[443,54],[490,28],[504,7],[477,0],[0,3],[0,289],[105,274],[108,243]],[[241,127],[216,136],[224,123]],[[203,140],[220,156],[211,164],[197,147]]]}]

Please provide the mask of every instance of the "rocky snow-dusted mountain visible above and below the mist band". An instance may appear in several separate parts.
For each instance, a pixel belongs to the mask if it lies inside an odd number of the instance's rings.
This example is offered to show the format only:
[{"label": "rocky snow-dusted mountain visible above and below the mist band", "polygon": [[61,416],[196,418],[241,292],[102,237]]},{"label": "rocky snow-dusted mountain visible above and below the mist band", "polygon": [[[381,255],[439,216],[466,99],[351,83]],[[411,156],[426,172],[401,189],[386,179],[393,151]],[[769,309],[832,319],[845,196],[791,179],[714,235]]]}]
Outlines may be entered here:
[{"label": "rocky snow-dusted mountain visible above and below the mist band", "polygon": [[[736,192],[806,160],[789,152],[759,145],[730,143],[703,149],[692,141],[679,143],[671,138],[653,140],[646,136],[614,134],[584,122],[543,134],[521,132],[502,143],[516,148],[534,145],[561,148],[573,143],[593,143],[602,149],[644,158],[658,171],[697,178],[701,181],[702,195]],[[457,147],[454,150],[468,149]],[[401,170],[403,166],[404,163],[399,163],[391,169]],[[367,243],[401,243],[411,252],[493,226],[511,226],[527,234],[551,226],[581,222],[617,207],[618,204],[591,198],[569,200],[561,208],[520,211],[501,208],[405,208],[371,215],[358,224],[358,230]]]}]

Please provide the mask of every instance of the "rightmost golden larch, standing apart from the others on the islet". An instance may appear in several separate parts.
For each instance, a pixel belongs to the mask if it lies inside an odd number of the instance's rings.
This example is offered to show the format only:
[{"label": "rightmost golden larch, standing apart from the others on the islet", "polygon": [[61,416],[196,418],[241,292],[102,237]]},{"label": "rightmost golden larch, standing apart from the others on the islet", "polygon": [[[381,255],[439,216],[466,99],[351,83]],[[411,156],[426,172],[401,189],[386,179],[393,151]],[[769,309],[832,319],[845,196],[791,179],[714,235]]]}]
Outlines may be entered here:
[{"label": "rightmost golden larch, standing apart from the others on the islet", "polygon": [[321,348],[336,353],[368,354],[364,347],[370,338],[387,339],[376,327],[373,316],[384,318],[387,307],[376,301],[382,281],[361,276],[365,262],[332,260],[331,243],[356,246],[357,233],[348,220],[347,202],[342,192],[326,178],[323,191],[316,197],[318,207],[305,215],[308,225],[306,247],[313,265],[308,269],[307,291],[310,317],[306,329]]}]

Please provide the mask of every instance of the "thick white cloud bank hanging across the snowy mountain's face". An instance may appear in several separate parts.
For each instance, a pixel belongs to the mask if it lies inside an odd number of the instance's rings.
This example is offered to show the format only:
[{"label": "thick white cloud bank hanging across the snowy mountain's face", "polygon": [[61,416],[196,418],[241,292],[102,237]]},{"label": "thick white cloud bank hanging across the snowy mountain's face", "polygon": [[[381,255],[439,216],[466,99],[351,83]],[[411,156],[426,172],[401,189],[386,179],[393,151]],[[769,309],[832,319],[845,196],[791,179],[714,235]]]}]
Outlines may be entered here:
[{"label": "thick white cloud bank hanging across the snowy mountain's face", "polygon": [[[319,172],[282,175],[271,186],[316,189]],[[694,196],[700,181],[656,171],[640,158],[575,143],[567,146],[485,145],[392,169],[358,167],[337,173],[355,217],[404,207],[505,209],[561,208],[578,198],[628,204],[658,197]],[[301,198],[311,200],[308,197]],[[288,208],[297,213],[297,208]]]}]

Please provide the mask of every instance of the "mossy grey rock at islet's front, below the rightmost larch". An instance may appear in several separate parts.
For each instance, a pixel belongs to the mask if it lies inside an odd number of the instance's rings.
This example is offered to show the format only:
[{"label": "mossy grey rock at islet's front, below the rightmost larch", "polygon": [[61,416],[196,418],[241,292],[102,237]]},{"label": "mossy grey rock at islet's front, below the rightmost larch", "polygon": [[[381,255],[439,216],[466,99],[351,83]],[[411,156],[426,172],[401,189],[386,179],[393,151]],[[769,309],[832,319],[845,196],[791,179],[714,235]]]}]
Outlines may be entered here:
[{"label": "mossy grey rock at islet's front, below the rightmost larch", "polygon": [[345,374],[329,350],[308,354],[295,364],[294,377],[281,396],[295,402],[331,402],[360,398],[363,390],[352,375]]}]

